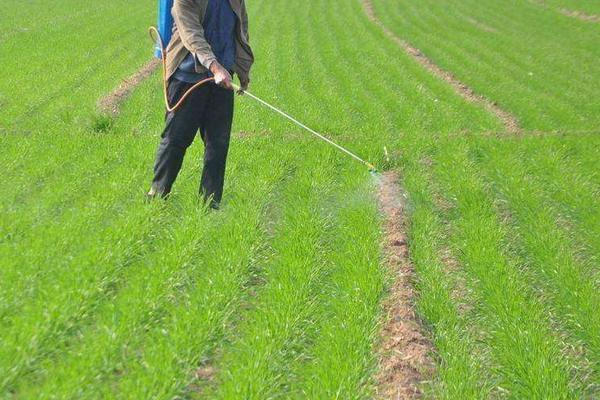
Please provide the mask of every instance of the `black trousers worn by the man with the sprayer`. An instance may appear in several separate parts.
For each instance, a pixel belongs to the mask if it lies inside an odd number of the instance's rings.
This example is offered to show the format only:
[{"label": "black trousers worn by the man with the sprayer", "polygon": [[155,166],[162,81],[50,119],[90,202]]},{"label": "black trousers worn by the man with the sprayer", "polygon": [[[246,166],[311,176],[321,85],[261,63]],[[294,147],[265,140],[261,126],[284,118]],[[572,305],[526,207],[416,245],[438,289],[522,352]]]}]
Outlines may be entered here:
[{"label": "black trousers worn by the man with the sprayer", "polygon": [[[168,88],[169,103],[175,104],[193,84],[171,79]],[[213,82],[196,89],[175,112],[167,112],[165,129],[154,163],[152,188],[166,196],[183,164],[187,148],[193,143],[198,130],[204,142],[204,168],[200,194],[204,199],[219,203],[223,196],[225,165],[231,123],[233,120],[232,90]]]}]

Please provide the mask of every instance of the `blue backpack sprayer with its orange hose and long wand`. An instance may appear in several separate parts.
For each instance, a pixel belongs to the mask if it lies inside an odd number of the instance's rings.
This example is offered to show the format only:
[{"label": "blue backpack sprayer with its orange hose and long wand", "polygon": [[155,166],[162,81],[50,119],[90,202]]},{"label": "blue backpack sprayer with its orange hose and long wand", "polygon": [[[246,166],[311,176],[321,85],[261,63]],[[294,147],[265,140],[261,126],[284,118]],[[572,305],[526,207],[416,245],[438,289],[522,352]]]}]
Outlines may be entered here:
[{"label": "blue backpack sprayer with its orange hose and long wand", "polygon": [[[177,102],[177,104],[175,104],[175,105],[169,104],[169,99],[168,99],[168,96],[167,96],[168,82],[167,82],[167,77],[166,77],[166,46],[165,46],[165,44],[168,44],[169,41],[171,40],[171,34],[172,34],[172,29],[173,29],[173,16],[171,15],[171,8],[173,7],[173,1],[174,0],[158,0],[158,28],[152,26],[152,27],[150,27],[150,30],[149,30],[150,31],[150,37],[155,42],[154,55],[157,58],[162,59],[162,62],[163,62],[163,88],[164,88],[164,97],[165,97],[165,105],[167,107],[167,111],[169,111],[169,112],[176,112],[177,109],[179,109],[179,107],[181,107],[181,105],[186,100],[186,98],[190,95],[190,93],[192,93],[194,90],[196,90],[200,86],[204,85],[205,83],[214,80],[214,78],[207,78],[207,79],[201,80],[200,82],[198,82],[194,86],[192,86],[186,93],[184,93],[184,95]],[[272,106],[271,104],[267,103],[266,101],[258,98],[257,96],[253,95],[252,93],[250,93],[248,91],[241,92],[239,86],[237,86],[235,84],[233,84],[233,86],[234,86],[234,88],[236,90],[238,90],[238,92],[240,94],[244,94],[244,95],[246,95],[246,96],[248,96],[248,97],[250,97],[250,98],[258,101],[260,104],[262,104],[265,107],[269,108],[270,110],[276,112],[277,114],[283,116],[284,118],[290,120],[291,122],[293,122],[294,124],[298,125],[302,129],[310,132],[311,134],[313,134],[317,138],[323,140],[324,142],[330,144],[331,146],[337,148],[338,150],[342,151],[343,153],[349,155],[350,157],[354,158],[355,160],[357,160],[357,161],[361,162],[362,164],[366,165],[367,168],[369,168],[370,172],[372,172],[372,173],[376,173],[377,172],[377,168],[375,168],[375,166],[373,164],[371,164],[368,161],[360,158],[356,154],[352,153],[350,150],[348,150],[348,149],[340,146],[339,144],[335,143],[331,139],[329,139],[329,138],[325,137],[324,135],[318,133],[314,129],[309,128],[308,126],[304,125],[303,123],[301,123],[297,119],[295,119],[292,116],[286,114],[285,112],[281,111],[277,107]]]}]

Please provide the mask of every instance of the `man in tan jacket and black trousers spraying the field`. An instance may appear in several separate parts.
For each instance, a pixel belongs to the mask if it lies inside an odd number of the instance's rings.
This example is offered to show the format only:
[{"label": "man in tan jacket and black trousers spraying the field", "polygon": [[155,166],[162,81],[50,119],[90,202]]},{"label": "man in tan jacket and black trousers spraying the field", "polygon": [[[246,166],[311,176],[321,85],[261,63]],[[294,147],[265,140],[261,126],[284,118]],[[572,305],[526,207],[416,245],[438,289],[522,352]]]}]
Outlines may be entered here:
[{"label": "man in tan jacket and black trousers spraying the field", "polygon": [[168,99],[175,104],[195,83],[206,83],[167,112],[154,164],[149,198],[166,197],[198,130],[204,142],[200,194],[214,209],[223,195],[225,164],[233,119],[232,75],[242,91],[250,83],[254,56],[248,40],[244,0],[175,0],[173,36],[167,47]]}]

